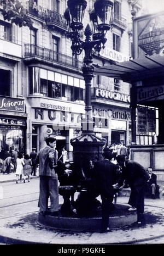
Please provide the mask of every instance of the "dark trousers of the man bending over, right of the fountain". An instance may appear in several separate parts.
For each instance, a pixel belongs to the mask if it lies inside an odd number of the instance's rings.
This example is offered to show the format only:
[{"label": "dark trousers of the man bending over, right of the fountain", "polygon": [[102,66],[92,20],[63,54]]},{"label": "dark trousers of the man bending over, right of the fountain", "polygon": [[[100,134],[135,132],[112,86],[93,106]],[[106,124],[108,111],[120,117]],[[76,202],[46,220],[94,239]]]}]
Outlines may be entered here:
[{"label": "dark trousers of the man bending over, right of the fountain", "polygon": [[144,221],[144,192],[144,186],[140,188],[131,188],[128,204],[137,208],[137,221]]}]

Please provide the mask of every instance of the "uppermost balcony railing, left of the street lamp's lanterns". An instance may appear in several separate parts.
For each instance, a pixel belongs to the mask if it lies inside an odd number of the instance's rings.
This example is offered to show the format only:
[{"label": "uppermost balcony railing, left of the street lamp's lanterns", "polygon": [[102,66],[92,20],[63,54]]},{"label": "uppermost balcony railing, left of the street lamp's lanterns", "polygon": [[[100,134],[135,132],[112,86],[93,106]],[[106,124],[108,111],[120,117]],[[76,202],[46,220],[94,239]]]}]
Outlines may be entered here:
[{"label": "uppermost balcony railing, left of the street lamp's lanterns", "polygon": [[63,15],[49,9],[45,10],[40,6],[38,6],[37,9],[33,8],[33,5],[33,2],[27,2],[27,13],[30,13],[44,20],[47,23],[47,25],[56,25],[57,27],[59,26],[62,29],[67,30],[67,22]]}]

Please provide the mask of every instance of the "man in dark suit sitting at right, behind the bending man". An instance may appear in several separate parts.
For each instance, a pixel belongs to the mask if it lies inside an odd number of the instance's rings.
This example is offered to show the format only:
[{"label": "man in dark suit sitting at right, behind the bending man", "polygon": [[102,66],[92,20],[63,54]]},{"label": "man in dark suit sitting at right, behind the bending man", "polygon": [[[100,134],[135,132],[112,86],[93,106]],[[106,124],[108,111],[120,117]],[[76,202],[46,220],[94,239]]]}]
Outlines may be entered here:
[{"label": "man in dark suit sitting at right, behind the bending man", "polygon": [[148,168],[148,174],[150,176],[150,180],[147,183],[147,192],[151,194],[153,199],[156,198],[156,194],[159,192],[159,186],[156,183],[156,174],[153,174],[153,170],[151,167]]}]

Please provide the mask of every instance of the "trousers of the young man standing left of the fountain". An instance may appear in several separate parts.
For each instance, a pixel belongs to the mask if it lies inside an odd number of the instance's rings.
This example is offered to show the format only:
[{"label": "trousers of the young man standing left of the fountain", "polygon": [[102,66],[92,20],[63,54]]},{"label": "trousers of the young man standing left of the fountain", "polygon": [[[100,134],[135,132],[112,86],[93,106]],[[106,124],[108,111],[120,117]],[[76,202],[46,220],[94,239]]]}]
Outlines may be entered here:
[{"label": "trousers of the young man standing left of the fountain", "polygon": [[39,207],[40,212],[45,212],[48,208],[48,199],[50,196],[50,212],[58,211],[58,177],[40,176]]}]

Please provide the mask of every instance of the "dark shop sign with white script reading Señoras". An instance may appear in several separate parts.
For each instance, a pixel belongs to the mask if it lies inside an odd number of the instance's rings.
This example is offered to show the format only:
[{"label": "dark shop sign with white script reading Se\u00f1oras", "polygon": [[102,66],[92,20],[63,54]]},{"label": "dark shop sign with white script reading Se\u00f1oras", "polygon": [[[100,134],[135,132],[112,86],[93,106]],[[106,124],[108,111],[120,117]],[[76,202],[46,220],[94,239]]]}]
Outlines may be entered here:
[{"label": "dark shop sign with white script reading Se\u00f1oras", "polygon": [[25,112],[25,100],[6,97],[6,96],[0,96],[0,110]]}]

